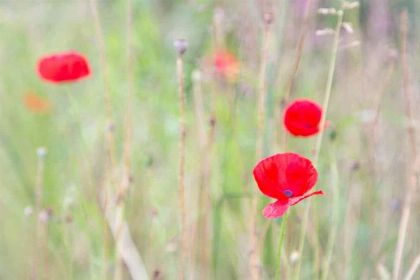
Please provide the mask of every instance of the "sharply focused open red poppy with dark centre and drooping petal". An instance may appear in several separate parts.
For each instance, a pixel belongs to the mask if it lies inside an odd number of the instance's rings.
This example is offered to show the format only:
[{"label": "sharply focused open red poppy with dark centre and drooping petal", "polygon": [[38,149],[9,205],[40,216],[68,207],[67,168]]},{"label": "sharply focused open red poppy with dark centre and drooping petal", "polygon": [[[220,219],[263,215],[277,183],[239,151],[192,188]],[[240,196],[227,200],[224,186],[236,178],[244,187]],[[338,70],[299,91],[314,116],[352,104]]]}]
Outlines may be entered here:
[{"label": "sharply focused open red poppy with dark centre and drooping petal", "polygon": [[263,211],[268,219],[283,216],[286,210],[305,198],[324,194],[308,193],[318,179],[318,172],[311,161],[298,154],[276,154],[260,161],[254,168],[254,178],[260,191],[277,201]]}]

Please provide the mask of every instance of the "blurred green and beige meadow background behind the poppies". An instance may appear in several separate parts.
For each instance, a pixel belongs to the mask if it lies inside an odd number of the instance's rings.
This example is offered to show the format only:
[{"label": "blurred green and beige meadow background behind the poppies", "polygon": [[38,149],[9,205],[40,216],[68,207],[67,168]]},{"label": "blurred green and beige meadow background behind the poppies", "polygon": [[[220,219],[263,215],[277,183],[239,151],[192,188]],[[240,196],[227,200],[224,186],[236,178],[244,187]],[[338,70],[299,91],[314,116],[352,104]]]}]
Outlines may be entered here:
[{"label": "blurred green and beige meadow background behind the poppies", "polygon": [[[254,196],[260,278],[253,279],[420,279],[420,184],[413,179],[420,159],[407,132],[417,134],[418,152],[417,0],[364,0],[344,9],[316,164],[316,188],[325,195],[289,209],[281,250],[283,219],[262,216],[269,200],[252,177],[261,159],[257,95],[267,95],[263,156],[293,151],[313,159],[317,137],[286,135],[282,111],[295,98],[323,103],[337,16],[318,9],[341,5],[0,1],[0,279],[250,279]],[[264,37],[267,13],[273,22]],[[183,230],[179,38],[188,41]],[[215,73],[218,49],[237,58],[233,78]],[[66,84],[39,78],[41,56],[69,50],[88,58],[90,77]],[[28,94],[46,100],[48,110],[32,110]],[[400,225],[404,207],[407,227]]]}]

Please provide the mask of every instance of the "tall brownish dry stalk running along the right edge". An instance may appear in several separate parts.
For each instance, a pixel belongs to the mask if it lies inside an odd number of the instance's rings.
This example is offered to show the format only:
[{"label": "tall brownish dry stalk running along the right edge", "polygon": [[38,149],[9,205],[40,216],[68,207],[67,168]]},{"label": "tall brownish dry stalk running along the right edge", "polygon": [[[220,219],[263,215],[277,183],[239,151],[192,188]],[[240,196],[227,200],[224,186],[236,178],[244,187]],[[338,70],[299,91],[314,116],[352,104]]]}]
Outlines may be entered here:
[{"label": "tall brownish dry stalk running along the right edge", "polygon": [[400,226],[398,230],[398,241],[395,249],[394,270],[392,279],[397,280],[401,273],[401,262],[404,255],[404,245],[407,236],[407,229],[411,214],[411,200],[417,186],[417,162],[419,160],[416,149],[416,131],[414,126],[413,111],[412,111],[412,92],[410,90],[410,72],[407,52],[407,37],[408,37],[408,13],[403,11],[401,13],[401,67],[403,71],[403,94],[405,104],[405,115],[409,122],[407,126],[407,136],[409,140],[409,148],[411,155],[411,162],[409,164],[409,174],[407,178],[407,190],[405,192],[404,206],[401,214]]}]

